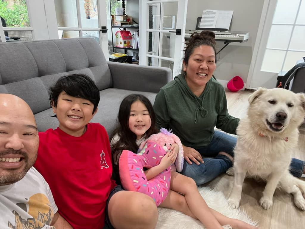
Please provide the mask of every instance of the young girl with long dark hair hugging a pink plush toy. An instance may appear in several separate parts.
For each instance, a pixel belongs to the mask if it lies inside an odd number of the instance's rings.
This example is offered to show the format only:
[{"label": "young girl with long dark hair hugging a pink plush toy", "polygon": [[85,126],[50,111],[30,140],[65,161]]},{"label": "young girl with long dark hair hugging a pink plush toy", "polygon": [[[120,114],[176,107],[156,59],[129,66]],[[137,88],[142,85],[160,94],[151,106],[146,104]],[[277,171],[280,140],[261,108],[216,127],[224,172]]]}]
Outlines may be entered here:
[{"label": "young girl with long dark hair hugging a pink plush toy", "polygon": [[[157,133],[152,104],[143,95],[132,94],[124,98],[120,105],[118,122],[118,127],[111,140],[113,162],[116,165],[119,164],[123,149],[137,152],[138,146],[143,140]],[[168,168],[175,161],[178,150],[178,145],[174,144],[159,165],[147,169],[145,171],[147,179],[150,180]],[[207,229],[222,229],[221,225],[227,224],[238,229],[257,228],[210,209],[200,195],[195,181],[175,171],[171,171],[170,190],[164,202],[159,206],[175,209],[198,219]]]}]

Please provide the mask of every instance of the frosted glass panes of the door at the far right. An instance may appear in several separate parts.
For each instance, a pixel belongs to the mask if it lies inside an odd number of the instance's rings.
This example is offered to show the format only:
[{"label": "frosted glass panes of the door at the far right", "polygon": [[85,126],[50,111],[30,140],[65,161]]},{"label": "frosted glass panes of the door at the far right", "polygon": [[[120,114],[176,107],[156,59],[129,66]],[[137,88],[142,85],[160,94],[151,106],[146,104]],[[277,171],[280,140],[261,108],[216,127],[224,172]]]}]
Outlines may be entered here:
[{"label": "frosted glass panes of the door at the far right", "polygon": [[278,0],[261,71],[289,71],[305,56],[305,0]]}]

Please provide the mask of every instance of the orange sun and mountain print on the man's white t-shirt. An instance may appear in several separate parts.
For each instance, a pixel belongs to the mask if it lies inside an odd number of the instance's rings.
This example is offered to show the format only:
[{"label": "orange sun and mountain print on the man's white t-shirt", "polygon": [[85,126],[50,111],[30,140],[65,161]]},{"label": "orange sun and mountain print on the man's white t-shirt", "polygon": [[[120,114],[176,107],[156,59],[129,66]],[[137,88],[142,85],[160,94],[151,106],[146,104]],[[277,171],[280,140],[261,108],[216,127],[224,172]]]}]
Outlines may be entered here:
[{"label": "orange sun and mountain print on the man's white t-shirt", "polygon": [[33,216],[33,218],[23,219],[20,216],[20,213],[13,210],[13,214],[15,215],[15,223],[8,221],[9,228],[42,229],[45,225],[51,224],[54,213],[48,198],[44,194],[34,194],[28,199],[27,204],[17,203],[16,205],[20,207],[20,211],[27,212],[29,215]]}]

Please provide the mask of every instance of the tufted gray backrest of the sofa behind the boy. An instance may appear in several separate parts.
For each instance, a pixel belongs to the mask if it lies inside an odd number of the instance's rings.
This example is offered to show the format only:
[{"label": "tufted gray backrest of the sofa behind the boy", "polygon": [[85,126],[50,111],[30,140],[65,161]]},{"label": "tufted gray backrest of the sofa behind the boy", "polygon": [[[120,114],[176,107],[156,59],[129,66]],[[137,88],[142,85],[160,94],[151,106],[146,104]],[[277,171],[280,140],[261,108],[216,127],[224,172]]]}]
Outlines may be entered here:
[{"label": "tufted gray backrest of the sofa behind the boy", "polygon": [[50,108],[49,87],[74,73],[89,75],[100,91],[113,85],[105,56],[93,38],[0,43],[0,93],[19,96],[34,114]]}]

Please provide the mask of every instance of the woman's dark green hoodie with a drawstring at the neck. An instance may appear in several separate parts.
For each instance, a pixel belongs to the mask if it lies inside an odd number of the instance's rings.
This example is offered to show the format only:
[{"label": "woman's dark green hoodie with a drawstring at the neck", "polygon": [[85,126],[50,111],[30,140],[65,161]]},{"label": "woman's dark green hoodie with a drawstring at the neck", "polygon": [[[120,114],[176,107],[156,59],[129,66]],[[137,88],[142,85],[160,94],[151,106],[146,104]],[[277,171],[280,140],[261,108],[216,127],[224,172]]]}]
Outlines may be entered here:
[{"label": "woman's dark green hoodie with a drawstring at the neck", "polygon": [[210,144],[214,127],[236,134],[239,118],[228,114],[224,87],[211,78],[197,97],[185,77],[178,75],[162,87],[154,103],[157,127],[172,129],[182,144],[200,148]]}]

